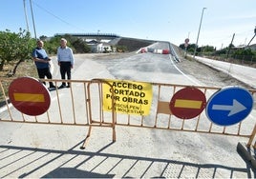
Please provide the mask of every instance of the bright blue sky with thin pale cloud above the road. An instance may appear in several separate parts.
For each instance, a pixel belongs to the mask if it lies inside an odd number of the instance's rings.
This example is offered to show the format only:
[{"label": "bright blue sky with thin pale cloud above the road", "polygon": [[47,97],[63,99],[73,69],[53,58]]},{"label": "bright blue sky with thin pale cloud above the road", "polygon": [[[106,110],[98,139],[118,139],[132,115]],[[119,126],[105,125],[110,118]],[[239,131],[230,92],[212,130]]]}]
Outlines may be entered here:
[{"label": "bright blue sky with thin pale cloud above the road", "polygon": [[[21,28],[30,30],[32,37],[37,38],[56,33],[115,33],[122,37],[168,41],[177,46],[186,38],[190,44],[196,44],[198,39],[199,47],[208,45],[218,50],[228,47],[233,35],[233,45],[247,45],[256,28],[256,0],[0,2],[0,30],[18,32]],[[256,38],[250,44],[256,44]]]}]

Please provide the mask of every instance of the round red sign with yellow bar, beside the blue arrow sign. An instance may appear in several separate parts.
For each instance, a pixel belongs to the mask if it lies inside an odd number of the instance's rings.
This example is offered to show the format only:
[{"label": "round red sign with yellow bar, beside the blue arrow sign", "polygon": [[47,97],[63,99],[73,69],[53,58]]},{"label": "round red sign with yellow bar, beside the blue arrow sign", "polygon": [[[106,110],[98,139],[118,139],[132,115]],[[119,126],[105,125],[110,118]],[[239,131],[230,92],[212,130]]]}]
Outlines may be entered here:
[{"label": "round red sign with yellow bar, beside the blue arrow sign", "polygon": [[196,88],[185,88],[177,91],[169,105],[172,113],[181,119],[191,119],[198,116],[205,106],[205,95]]}]

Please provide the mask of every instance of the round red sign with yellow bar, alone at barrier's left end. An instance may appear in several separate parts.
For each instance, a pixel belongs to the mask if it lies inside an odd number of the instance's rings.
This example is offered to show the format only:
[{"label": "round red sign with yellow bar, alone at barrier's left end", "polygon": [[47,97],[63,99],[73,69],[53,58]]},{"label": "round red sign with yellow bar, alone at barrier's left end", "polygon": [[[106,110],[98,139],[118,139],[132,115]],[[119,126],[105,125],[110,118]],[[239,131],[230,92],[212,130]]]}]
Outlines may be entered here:
[{"label": "round red sign with yellow bar, alone at barrier's left end", "polygon": [[28,115],[40,115],[49,109],[51,97],[49,90],[32,77],[13,80],[9,87],[11,104]]}]

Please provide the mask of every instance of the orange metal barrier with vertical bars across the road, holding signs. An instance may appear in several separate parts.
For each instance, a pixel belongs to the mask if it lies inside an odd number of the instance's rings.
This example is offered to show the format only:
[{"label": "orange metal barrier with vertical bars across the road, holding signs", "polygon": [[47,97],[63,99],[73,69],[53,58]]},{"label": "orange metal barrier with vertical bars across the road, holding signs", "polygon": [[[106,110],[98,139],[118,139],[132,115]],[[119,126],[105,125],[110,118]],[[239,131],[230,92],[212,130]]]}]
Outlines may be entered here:
[{"label": "orange metal barrier with vertical bars across the road, holding signs", "polygon": [[[170,98],[180,89],[188,86],[176,84],[151,83],[153,89],[152,106],[149,115],[131,115],[118,113],[115,110],[116,99],[112,98],[112,110],[106,111],[103,106],[103,85],[112,85],[104,79],[94,80],[47,80],[55,86],[61,82],[70,82],[70,89],[55,89],[51,91],[51,107],[42,115],[30,116],[11,107],[9,97],[4,89],[14,78],[0,78],[1,93],[5,105],[1,109],[0,121],[31,124],[88,126],[89,130],[81,149],[84,149],[93,127],[108,127],[113,129],[113,141],[116,141],[116,126],[137,127],[147,129],[181,130],[186,132],[211,133],[248,138],[247,147],[255,143],[256,125],[254,120],[243,120],[237,125],[221,127],[207,119],[205,112],[193,119],[181,119],[172,114]],[[208,99],[220,88],[193,86],[202,90]],[[256,89],[248,89],[255,99]],[[166,97],[168,94],[168,97]],[[113,92],[114,96],[115,93]],[[4,108],[4,109],[3,109]],[[204,109],[203,109],[204,110]],[[70,112],[68,112],[70,111]],[[256,148],[256,145],[253,145]]]}]

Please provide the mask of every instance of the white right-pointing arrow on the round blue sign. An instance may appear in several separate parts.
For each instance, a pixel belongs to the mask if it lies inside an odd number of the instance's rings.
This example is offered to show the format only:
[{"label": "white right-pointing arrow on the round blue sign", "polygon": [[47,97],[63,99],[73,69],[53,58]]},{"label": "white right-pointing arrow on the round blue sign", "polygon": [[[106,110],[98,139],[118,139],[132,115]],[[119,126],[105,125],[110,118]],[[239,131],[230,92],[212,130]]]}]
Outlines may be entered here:
[{"label": "white right-pointing arrow on the round blue sign", "polygon": [[227,106],[227,105],[213,105],[212,109],[215,110],[230,110],[227,116],[234,115],[242,110],[245,110],[245,106],[239,103],[237,100],[233,99],[233,105]]}]

